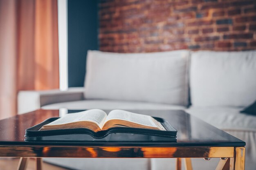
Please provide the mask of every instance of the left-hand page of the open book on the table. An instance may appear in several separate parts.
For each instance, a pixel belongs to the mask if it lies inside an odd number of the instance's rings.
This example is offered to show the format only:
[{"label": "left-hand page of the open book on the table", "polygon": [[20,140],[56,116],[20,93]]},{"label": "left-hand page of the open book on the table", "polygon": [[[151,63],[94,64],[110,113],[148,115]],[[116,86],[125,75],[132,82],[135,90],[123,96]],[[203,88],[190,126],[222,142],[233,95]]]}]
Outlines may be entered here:
[{"label": "left-hand page of the open book on the table", "polygon": [[67,124],[72,123],[76,121],[92,121],[96,123],[100,128],[103,125],[103,122],[105,121],[107,117],[107,114],[100,109],[91,109],[91,110],[85,110],[79,113],[70,113],[67,114],[49,124],[48,125],[58,125],[58,124]]}]

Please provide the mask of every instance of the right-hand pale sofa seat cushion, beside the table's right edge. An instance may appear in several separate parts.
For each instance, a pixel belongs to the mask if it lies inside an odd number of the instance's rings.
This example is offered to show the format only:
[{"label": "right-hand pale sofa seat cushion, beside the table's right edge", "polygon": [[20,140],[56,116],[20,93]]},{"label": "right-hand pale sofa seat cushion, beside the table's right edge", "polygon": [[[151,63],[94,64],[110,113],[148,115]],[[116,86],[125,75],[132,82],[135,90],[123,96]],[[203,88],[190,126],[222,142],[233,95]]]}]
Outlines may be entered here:
[{"label": "right-hand pale sofa seat cushion, beside the table's right edge", "polygon": [[256,116],[241,114],[241,107],[195,107],[187,113],[198,117],[221,130],[244,130],[256,132]]}]

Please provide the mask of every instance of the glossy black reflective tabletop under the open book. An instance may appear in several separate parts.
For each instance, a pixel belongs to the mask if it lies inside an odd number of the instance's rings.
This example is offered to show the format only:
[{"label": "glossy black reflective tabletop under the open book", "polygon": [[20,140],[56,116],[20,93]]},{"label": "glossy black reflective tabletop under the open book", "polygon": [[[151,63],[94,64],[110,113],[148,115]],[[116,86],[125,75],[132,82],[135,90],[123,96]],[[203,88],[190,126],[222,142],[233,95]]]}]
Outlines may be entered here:
[{"label": "glossy black reflective tabletop under the open book", "polygon": [[[81,110],[69,110],[69,113]],[[110,110],[105,110],[109,113]],[[168,137],[138,134],[110,134],[102,139],[90,135],[69,135],[35,138],[25,141],[25,130],[50,117],[59,117],[59,110],[36,110],[0,120],[0,146],[245,146],[245,142],[193,117],[182,110],[129,110],[134,113],[166,119],[177,129],[177,141]]]}]

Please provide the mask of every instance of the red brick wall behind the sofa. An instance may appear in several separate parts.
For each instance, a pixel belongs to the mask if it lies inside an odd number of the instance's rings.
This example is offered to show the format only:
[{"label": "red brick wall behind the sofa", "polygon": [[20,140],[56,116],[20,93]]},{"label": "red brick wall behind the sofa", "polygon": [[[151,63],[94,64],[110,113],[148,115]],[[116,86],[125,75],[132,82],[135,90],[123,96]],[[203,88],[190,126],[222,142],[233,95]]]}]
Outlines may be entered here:
[{"label": "red brick wall behind the sofa", "polygon": [[256,49],[256,0],[101,0],[101,51]]}]

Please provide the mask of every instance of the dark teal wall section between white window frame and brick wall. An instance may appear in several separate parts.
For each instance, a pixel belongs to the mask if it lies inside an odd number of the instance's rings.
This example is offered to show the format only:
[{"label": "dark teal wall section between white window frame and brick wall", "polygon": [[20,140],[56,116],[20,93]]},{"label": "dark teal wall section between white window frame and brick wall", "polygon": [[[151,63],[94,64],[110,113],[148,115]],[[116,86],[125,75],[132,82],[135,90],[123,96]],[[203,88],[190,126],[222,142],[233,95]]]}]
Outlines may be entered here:
[{"label": "dark teal wall section between white window frame and brick wall", "polygon": [[98,2],[97,0],[67,1],[68,33],[68,86],[83,86],[86,55],[97,50]]}]

